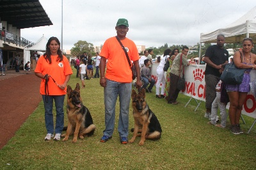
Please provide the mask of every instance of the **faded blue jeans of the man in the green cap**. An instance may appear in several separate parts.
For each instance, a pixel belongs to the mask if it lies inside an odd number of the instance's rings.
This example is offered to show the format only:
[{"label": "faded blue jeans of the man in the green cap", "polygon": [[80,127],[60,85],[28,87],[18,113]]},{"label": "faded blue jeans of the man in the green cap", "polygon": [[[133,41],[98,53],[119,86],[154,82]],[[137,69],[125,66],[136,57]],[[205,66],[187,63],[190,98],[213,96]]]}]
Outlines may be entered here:
[{"label": "faded blue jeans of the man in the green cap", "polygon": [[129,105],[131,100],[132,83],[121,83],[107,79],[107,86],[104,88],[105,104],[105,130],[103,135],[111,137],[115,128],[115,105],[119,96],[120,113],[118,121],[118,132],[120,137],[127,137],[129,134]]}]

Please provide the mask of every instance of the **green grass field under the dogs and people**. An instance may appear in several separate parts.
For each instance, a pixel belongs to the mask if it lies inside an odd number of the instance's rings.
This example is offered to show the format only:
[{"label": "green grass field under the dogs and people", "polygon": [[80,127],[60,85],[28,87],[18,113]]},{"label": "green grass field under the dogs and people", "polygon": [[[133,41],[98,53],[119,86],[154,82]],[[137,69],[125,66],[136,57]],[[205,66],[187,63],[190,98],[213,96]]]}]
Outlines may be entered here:
[{"label": "green grass field under the dogs and people", "polygon": [[[73,70],[75,72],[75,70]],[[70,86],[81,81],[72,75]],[[233,135],[226,128],[207,124],[204,102],[195,112],[196,102],[179,95],[178,105],[147,93],[147,102],[161,123],[163,134],[159,141],[120,144],[117,123],[119,104],[116,104],[116,125],[113,138],[100,143],[104,130],[104,96],[99,79],[90,79],[81,89],[83,103],[90,109],[96,125],[92,137],[68,141],[44,141],[44,104],[29,116],[15,136],[0,150],[0,169],[255,169],[256,127],[247,134],[253,118],[243,116],[244,134]],[[38,87],[39,91],[39,87]],[[127,94],[130,95],[130,94]],[[56,113],[54,113],[56,115]],[[67,115],[65,114],[65,125]],[[134,126],[130,107],[129,128]],[[129,133],[129,139],[132,132]]]}]

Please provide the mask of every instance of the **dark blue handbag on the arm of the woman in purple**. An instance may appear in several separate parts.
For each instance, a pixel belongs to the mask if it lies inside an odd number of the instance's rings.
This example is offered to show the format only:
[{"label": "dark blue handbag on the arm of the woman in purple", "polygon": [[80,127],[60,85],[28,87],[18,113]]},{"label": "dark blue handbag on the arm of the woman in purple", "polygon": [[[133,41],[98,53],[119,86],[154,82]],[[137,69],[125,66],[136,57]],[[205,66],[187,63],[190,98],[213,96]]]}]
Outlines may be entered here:
[{"label": "dark blue handbag on the arm of the woman in purple", "polygon": [[[240,52],[241,54],[241,52]],[[240,56],[241,58],[241,62],[242,62],[242,54]],[[236,65],[234,64],[234,62],[232,63],[228,63],[225,66],[224,71],[221,74],[221,81],[227,83],[227,84],[241,84],[241,82],[243,81],[243,77],[244,77],[244,71],[246,69],[244,68],[237,68]]]}]

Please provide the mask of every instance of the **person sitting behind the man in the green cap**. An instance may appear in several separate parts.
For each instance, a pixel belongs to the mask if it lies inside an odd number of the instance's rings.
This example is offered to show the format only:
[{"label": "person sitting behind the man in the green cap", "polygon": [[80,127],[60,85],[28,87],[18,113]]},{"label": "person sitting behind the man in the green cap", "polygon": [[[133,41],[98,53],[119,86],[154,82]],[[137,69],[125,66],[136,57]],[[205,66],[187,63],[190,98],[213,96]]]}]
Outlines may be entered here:
[{"label": "person sitting behind the man in the green cap", "polygon": [[[145,59],[144,60],[144,65],[142,68],[141,68],[141,78],[142,78],[142,81],[144,82],[142,88],[146,89],[146,91],[148,93],[151,93],[151,89],[153,88],[154,84],[155,84],[155,80],[151,78],[151,71],[150,69],[148,68],[148,66],[150,66],[150,60],[149,59]],[[148,84],[150,83],[150,85],[148,86]],[[148,88],[147,88],[148,86]]]}]

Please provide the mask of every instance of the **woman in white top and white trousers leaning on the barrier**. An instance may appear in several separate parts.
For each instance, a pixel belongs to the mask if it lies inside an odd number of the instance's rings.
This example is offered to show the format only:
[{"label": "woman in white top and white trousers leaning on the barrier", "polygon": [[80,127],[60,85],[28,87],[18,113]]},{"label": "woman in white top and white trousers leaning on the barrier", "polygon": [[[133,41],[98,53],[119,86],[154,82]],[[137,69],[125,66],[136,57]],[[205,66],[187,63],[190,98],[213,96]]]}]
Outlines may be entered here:
[{"label": "woman in white top and white trousers leaning on the barrier", "polygon": [[[166,63],[166,61],[169,62],[171,52],[172,52],[171,49],[164,50],[164,57],[163,57],[163,59],[161,59],[159,65],[157,66],[157,69],[156,69],[156,74],[157,74],[156,97],[157,98],[164,98],[164,88],[165,88],[165,83],[166,83],[166,79],[164,77],[164,64]],[[161,85],[161,94],[160,94],[159,90],[160,90],[161,82],[162,82],[162,85]]]}]

